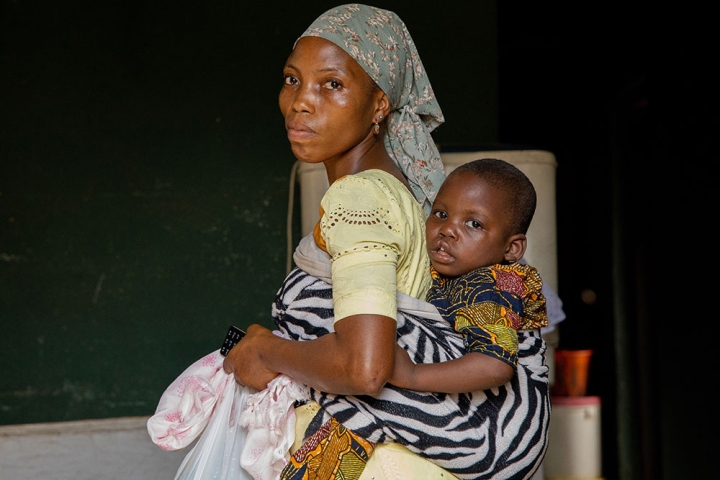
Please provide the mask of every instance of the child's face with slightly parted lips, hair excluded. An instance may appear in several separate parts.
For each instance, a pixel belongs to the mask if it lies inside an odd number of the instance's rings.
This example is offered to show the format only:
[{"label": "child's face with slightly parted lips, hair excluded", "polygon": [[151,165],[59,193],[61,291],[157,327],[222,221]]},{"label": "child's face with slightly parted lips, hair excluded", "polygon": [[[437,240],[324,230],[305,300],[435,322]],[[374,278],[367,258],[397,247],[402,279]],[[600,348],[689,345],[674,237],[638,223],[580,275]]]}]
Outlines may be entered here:
[{"label": "child's face with slightly parted lips, hair excluded", "polygon": [[426,222],[430,261],[441,275],[457,277],[501,263],[509,248],[505,194],[472,172],[450,175]]}]

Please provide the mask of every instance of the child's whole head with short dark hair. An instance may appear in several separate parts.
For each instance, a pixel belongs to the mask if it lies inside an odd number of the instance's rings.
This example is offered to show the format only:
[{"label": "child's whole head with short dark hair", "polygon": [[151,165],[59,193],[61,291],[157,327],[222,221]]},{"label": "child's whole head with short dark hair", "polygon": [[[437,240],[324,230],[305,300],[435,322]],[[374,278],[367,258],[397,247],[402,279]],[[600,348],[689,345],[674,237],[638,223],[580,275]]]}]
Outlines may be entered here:
[{"label": "child's whole head with short dark hair", "polygon": [[536,203],[532,182],[514,165],[495,158],[460,165],[440,187],[427,219],[430,261],[447,277],[517,262]]}]

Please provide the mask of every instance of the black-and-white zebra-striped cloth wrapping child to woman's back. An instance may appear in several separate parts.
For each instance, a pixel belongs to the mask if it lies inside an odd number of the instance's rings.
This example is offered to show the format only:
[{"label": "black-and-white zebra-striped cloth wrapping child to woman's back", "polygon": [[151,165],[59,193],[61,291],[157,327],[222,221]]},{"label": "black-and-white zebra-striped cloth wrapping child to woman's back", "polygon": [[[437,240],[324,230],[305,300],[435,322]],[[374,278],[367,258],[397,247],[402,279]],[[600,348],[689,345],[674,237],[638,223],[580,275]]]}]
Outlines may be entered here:
[{"label": "black-and-white zebra-striped cloth wrapping child to woman's back", "polygon": [[[298,268],[278,291],[273,318],[290,338],[311,340],[333,329],[329,257],[306,237],[294,259]],[[548,367],[539,330],[520,331],[518,341],[517,374],[502,387],[435,394],[388,384],[377,396],[311,389],[324,417],[310,428],[332,416],[370,442],[400,443],[462,479],[529,479],[547,448]],[[416,363],[442,362],[465,352],[462,336],[434,306],[402,293],[398,343]]]}]

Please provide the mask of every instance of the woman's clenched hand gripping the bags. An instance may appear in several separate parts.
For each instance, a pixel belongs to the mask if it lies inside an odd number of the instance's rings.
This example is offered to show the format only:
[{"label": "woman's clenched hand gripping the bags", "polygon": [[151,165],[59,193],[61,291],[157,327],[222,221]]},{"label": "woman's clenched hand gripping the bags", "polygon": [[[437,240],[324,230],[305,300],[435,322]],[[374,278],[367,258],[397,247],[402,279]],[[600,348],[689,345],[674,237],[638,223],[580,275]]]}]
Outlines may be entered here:
[{"label": "woman's clenched hand gripping the bags", "polygon": [[269,369],[265,361],[266,352],[271,352],[273,342],[278,340],[283,339],[262,325],[250,325],[245,337],[225,357],[223,369],[232,373],[238,383],[264,390],[279,374]]}]

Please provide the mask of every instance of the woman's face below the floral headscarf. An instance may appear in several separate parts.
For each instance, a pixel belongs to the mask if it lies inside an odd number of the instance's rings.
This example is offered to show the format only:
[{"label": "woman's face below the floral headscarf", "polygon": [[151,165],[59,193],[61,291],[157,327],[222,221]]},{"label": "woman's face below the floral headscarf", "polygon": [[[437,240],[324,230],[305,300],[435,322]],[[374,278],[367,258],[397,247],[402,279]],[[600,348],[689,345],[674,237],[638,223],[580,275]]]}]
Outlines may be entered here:
[{"label": "woman's face below the floral headscarf", "polygon": [[283,69],[279,95],[295,156],[319,163],[342,159],[373,136],[375,99],[370,76],[343,49],[319,37],[302,37]]}]

